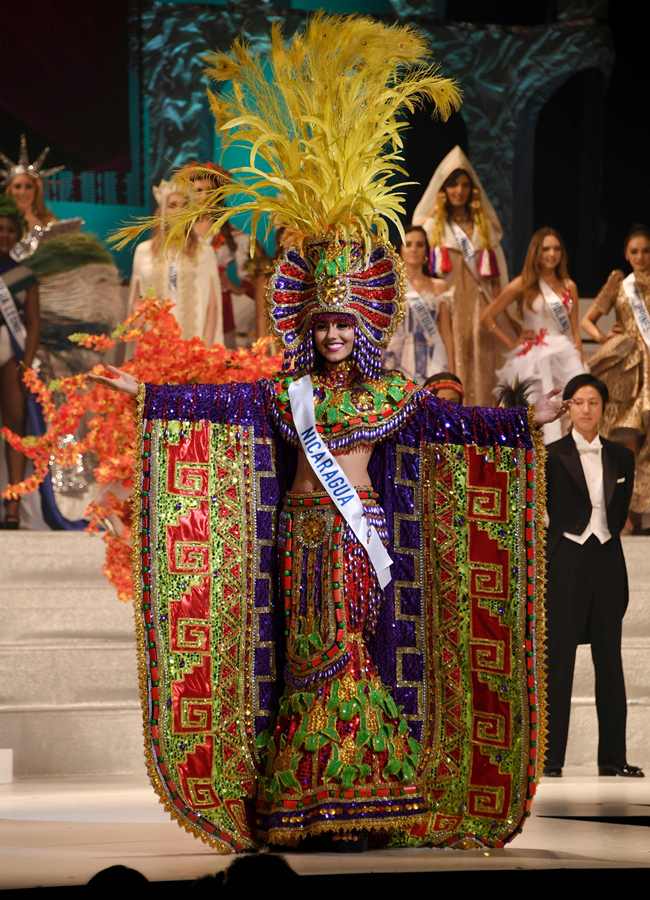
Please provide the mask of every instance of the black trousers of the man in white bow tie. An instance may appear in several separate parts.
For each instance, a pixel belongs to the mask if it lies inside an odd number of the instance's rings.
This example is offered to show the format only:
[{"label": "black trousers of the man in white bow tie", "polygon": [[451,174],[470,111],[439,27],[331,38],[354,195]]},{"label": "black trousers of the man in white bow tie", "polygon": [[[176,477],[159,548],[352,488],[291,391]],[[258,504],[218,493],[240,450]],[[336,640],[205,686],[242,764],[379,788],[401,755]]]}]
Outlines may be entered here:
[{"label": "black trousers of the man in white bow tie", "polygon": [[592,535],[582,546],[560,538],[548,561],[548,768],[564,765],[578,644],[591,644],[596,672],[598,764],[626,761],[621,630],[627,601],[618,537],[601,544]]}]

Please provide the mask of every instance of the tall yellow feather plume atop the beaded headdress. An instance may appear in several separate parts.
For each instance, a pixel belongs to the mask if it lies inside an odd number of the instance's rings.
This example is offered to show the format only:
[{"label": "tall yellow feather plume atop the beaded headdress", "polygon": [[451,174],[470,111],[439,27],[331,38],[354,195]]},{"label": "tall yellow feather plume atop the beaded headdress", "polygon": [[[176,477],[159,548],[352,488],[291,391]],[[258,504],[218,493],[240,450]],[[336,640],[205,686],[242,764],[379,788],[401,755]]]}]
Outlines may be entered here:
[{"label": "tall yellow feather plume atop the beaded headdress", "polygon": [[[389,222],[402,232],[400,188],[410,182],[395,179],[406,174],[405,114],[431,102],[446,119],[460,105],[457,85],[439,75],[415,28],[318,13],[288,43],[274,25],[266,63],[241,40],[207,62],[214,82],[229,83],[209,92],[217,130],[226,146],[250,147],[248,162],[170,215],[169,240],[184,240],[200,216],[213,218],[216,232],[247,211],[251,247],[264,214],[299,244],[323,236],[387,240]],[[213,174],[199,166],[174,178],[189,188]],[[124,242],[146,227],[140,222],[116,237]]]}]

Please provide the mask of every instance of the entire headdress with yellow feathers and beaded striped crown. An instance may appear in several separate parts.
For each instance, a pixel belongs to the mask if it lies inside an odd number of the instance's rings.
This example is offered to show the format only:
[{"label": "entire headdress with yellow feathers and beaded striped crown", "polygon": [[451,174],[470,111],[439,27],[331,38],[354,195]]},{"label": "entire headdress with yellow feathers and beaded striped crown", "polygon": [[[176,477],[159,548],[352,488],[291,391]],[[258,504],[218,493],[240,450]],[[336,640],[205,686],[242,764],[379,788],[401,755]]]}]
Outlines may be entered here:
[{"label": "entire headdress with yellow feathers and beaded striped crown", "polygon": [[[446,118],[460,102],[442,78],[424,38],[411,26],[317,13],[285,42],[274,25],[268,64],[241,41],[208,58],[207,74],[226,86],[208,92],[227,144],[250,147],[230,179],[195,195],[176,213],[169,240],[211,216],[217,232],[239,213],[251,217],[251,248],[262,216],[267,232],[283,228],[285,250],[267,293],[269,316],[288,369],[313,366],[312,324],[323,313],[352,316],[355,360],[364,374],[381,365],[381,349],[401,314],[401,263],[388,242],[400,232],[405,174],[405,111],[425,100]],[[177,173],[190,182],[201,166]],[[136,236],[138,227],[118,236]],[[147,227],[146,224],[144,227]]]}]

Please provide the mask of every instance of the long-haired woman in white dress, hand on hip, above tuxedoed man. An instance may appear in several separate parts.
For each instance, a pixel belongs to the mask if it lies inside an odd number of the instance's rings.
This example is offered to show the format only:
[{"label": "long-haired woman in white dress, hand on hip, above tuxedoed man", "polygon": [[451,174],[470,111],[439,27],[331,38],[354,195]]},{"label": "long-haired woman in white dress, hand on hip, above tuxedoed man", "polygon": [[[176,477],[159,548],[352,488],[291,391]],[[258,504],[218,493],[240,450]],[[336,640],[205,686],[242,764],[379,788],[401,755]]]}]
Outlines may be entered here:
[{"label": "long-haired woman in white dress, hand on hip, above tuxedoed man", "polygon": [[[499,313],[516,304],[523,333],[513,340],[497,324]],[[497,372],[500,385],[530,384],[529,400],[562,390],[574,375],[585,372],[578,324],[578,292],[569,278],[567,255],[557,231],[540,228],[532,236],[521,275],[501,292],[481,316],[492,332],[510,350]],[[561,423],[544,430],[550,443],[562,435]]]}]

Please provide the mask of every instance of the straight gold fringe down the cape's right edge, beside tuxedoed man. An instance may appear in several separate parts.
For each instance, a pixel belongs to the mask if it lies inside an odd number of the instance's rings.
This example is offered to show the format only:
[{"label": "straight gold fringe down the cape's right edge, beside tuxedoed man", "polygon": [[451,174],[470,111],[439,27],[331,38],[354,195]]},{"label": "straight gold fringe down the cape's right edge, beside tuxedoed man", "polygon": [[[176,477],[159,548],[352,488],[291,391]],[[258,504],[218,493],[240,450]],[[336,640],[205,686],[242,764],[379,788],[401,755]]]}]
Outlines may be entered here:
[{"label": "straight gold fringe down the cape's right edge, beside tuxedoed man", "polygon": [[528,427],[535,451],[535,654],[537,659],[537,765],[535,781],[542,777],[546,758],[548,715],[546,709],[546,447],[543,431],[528,410]]}]

